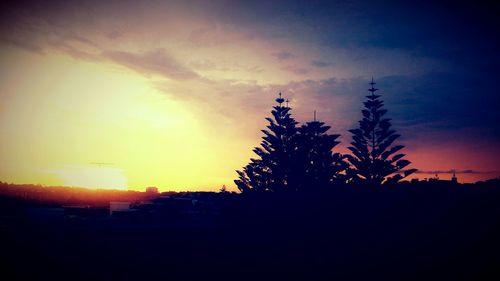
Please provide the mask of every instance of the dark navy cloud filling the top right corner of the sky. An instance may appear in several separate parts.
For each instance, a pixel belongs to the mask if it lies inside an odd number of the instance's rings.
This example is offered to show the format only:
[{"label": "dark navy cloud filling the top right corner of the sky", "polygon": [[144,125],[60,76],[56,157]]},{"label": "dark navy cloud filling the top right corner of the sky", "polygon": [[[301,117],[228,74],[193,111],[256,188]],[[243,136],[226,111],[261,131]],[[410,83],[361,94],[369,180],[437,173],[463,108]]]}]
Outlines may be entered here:
[{"label": "dark navy cloud filling the top right corner of the sky", "polygon": [[[234,3],[234,2],[231,2]],[[220,21],[269,39],[327,48],[403,50],[455,68],[500,63],[500,5],[491,1],[240,1],[214,5]]]}]

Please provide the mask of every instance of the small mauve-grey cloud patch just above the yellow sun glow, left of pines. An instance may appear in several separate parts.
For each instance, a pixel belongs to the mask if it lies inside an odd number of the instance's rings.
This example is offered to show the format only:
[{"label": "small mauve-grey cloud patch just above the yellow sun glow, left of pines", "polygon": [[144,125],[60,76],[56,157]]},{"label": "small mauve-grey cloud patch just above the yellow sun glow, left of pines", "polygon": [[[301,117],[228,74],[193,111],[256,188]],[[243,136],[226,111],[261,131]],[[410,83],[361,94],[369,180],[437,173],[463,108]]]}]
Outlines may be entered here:
[{"label": "small mauve-grey cloud patch just above the yellow sun glow, left of pines", "polygon": [[125,51],[104,51],[101,56],[143,75],[157,74],[174,80],[199,78],[198,74],[177,62],[162,48],[143,54]]}]

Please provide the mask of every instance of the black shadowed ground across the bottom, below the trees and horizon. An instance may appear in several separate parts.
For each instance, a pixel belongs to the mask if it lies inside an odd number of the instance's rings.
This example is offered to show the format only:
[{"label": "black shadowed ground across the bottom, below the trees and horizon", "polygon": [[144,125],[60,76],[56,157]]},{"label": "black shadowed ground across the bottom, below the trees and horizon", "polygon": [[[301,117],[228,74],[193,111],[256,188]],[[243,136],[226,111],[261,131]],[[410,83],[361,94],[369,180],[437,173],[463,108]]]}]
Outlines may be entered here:
[{"label": "black shadowed ground across the bottom, below the trees and horizon", "polygon": [[226,195],[215,205],[217,211],[175,220],[4,217],[0,274],[16,280],[500,280],[497,183]]}]

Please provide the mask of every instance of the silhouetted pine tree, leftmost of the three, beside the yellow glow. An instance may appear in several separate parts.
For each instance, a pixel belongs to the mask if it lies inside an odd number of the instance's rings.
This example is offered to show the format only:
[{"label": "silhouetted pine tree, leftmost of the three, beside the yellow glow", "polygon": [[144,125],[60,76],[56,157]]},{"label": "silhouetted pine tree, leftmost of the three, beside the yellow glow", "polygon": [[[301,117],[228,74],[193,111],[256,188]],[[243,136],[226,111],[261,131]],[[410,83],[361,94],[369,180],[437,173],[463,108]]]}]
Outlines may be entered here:
[{"label": "silhouetted pine tree, leftmost of the three, beside the yellow glow", "polygon": [[269,130],[262,130],[261,147],[253,150],[258,159],[250,159],[243,171],[236,171],[239,179],[234,182],[242,192],[297,189],[297,122],[290,116],[290,107],[283,106],[284,101],[280,93],[278,105],[271,111],[273,118],[266,118]]}]

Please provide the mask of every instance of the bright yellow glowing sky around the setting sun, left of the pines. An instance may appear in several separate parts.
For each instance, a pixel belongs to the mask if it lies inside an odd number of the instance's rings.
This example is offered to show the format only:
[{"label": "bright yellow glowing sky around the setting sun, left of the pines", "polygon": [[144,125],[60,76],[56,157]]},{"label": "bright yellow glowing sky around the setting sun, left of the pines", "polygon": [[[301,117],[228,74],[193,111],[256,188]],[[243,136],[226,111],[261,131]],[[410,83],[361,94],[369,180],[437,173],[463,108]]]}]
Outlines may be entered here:
[{"label": "bright yellow glowing sky around the setting sun, left of the pines", "polygon": [[4,181],[217,189],[232,185],[234,170],[255,145],[225,134],[219,139],[189,103],[124,67],[57,53],[1,52]]}]

